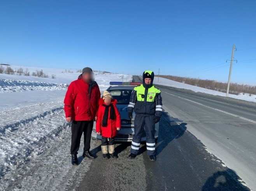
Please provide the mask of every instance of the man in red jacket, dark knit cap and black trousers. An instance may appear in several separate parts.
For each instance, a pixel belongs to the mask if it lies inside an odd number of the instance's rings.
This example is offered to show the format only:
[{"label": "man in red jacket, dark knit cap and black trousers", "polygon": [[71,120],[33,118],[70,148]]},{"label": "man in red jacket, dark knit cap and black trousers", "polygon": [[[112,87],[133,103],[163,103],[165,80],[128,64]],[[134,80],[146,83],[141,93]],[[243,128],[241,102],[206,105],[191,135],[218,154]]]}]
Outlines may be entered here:
[{"label": "man in red jacket, dark knit cap and black trousers", "polygon": [[70,153],[73,165],[78,165],[77,151],[79,150],[83,132],[83,157],[94,158],[89,149],[93,120],[98,110],[99,99],[100,89],[98,84],[94,81],[93,71],[91,68],[86,67],[82,69],[82,74],[78,79],[70,83],[64,99],[66,120],[67,122],[72,121]]}]

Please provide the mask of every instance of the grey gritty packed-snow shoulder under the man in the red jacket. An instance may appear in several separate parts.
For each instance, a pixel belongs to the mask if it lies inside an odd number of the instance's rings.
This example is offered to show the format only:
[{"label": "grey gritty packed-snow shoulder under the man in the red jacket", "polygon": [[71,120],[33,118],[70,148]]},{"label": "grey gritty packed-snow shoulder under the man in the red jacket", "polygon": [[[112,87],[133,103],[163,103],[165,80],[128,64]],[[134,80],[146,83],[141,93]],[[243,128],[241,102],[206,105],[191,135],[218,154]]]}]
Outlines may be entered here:
[{"label": "grey gritty packed-snow shoulder under the man in the red jacket", "polygon": [[[71,129],[67,126],[58,137],[46,144],[47,149],[42,155],[33,157],[29,163],[8,174],[6,179],[10,177],[11,181],[5,188],[15,191],[75,190],[86,176],[92,160],[81,157],[82,138],[78,153],[80,164],[73,166],[70,163],[70,142]],[[100,150],[99,146],[99,141],[91,141],[91,148],[94,150],[92,152]]]}]

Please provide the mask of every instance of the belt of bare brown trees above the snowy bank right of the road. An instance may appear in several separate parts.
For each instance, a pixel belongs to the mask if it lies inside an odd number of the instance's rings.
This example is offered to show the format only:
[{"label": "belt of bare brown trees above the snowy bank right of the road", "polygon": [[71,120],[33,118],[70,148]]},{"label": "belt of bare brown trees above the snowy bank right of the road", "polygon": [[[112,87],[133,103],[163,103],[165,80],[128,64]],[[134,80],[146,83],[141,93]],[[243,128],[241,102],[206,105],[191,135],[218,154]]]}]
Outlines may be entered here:
[{"label": "belt of bare brown trees above the snowy bank right of the road", "polygon": [[[158,75],[156,75],[158,76]],[[167,79],[171,79],[177,82],[190,84],[193,86],[199,86],[202,88],[212,89],[216,91],[226,92],[228,83],[218,82],[215,80],[208,79],[199,79],[199,78],[191,78],[191,77],[179,77],[179,76],[169,76],[169,75],[160,75],[160,77],[164,77]],[[230,83],[230,93],[238,95],[240,93],[247,93],[251,96],[251,94],[256,95],[256,86],[250,86],[246,84],[238,84],[238,83]]]}]

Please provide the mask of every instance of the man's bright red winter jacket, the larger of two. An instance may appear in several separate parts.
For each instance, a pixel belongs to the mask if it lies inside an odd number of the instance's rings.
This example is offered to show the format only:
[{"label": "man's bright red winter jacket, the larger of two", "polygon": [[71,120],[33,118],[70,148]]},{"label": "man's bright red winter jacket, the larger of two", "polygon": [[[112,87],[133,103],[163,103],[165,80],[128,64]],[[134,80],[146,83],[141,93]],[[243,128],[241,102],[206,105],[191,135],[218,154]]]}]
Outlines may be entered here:
[{"label": "man's bright red winter jacket, the larger of two", "polygon": [[66,117],[72,117],[72,120],[76,121],[87,121],[95,118],[100,99],[100,89],[95,81],[91,83],[91,88],[89,87],[81,75],[77,80],[70,83],[64,99]]}]

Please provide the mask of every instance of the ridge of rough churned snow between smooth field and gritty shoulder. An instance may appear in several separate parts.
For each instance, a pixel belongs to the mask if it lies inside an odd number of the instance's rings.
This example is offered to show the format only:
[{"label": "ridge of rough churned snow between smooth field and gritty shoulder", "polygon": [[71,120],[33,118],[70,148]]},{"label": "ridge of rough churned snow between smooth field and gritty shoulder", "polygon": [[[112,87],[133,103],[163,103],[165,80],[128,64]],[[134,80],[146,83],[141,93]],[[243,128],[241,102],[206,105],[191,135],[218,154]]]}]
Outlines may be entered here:
[{"label": "ridge of rough churned snow between smooth field and gritty shoulder", "polygon": [[[62,108],[17,122],[5,128],[0,136],[0,180],[12,170],[28,162],[33,155],[40,155],[49,139],[54,139],[67,124]],[[11,126],[11,125],[10,125]]]}]

